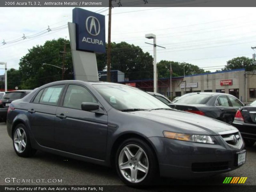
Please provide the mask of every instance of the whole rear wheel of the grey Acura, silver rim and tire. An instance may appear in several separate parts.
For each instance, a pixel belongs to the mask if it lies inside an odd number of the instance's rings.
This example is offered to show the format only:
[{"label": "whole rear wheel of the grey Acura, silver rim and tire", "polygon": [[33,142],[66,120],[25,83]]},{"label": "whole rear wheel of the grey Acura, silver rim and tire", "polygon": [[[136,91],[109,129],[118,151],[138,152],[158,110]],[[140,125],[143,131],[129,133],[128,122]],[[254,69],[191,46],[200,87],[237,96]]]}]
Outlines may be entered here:
[{"label": "whole rear wheel of the grey Acura, silver rim and tire", "polygon": [[36,149],[31,148],[29,135],[23,124],[18,124],[12,137],[14,151],[18,156],[29,157],[36,153]]}]

